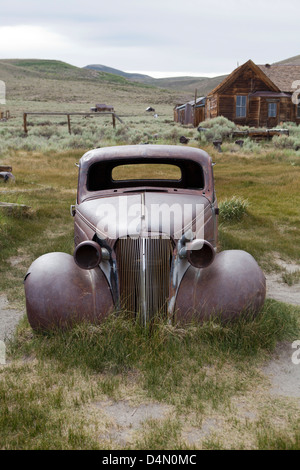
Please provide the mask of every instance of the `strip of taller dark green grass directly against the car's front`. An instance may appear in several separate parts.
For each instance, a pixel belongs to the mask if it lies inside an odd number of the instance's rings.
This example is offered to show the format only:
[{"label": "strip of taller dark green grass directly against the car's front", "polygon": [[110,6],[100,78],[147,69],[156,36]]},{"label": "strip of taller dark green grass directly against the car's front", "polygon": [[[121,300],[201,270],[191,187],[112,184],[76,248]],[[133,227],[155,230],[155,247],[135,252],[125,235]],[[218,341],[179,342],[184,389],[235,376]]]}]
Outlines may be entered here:
[{"label": "strip of taller dark green grass directly against the car's front", "polygon": [[[70,331],[34,334],[32,341],[28,341],[25,325],[25,341],[21,329],[20,337],[11,347],[16,356],[34,354],[39,359],[53,358],[65,367],[80,367],[95,373],[118,374],[141,368],[148,393],[155,395],[161,390],[161,382],[155,381],[156,374],[166,380],[173,362],[184,376],[193,368],[193,361],[199,367],[209,362],[213,353],[222,363],[228,356],[249,361],[263,351],[272,351],[278,341],[293,338],[297,331],[294,314],[290,313],[291,309],[284,304],[268,301],[252,320],[241,319],[226,326],[214,320],[202,326],[192,324],[183,330],[168,327],[159,319],[151,331],[128,320],[127,315],[118,314],[111,315],[101,326],[83,323]],[[173,380],[176,382],[175,375],[170,376],[170,390]],[[168,390],[164,393],[166,399]]]}]

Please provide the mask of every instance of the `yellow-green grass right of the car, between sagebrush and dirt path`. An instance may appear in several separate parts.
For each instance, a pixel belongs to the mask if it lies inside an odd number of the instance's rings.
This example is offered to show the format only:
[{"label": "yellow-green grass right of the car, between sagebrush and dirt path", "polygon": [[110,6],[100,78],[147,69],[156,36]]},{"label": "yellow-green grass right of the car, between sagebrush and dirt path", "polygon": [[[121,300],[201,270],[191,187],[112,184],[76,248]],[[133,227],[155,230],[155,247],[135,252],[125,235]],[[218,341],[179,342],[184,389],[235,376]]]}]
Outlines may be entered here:
[{"label": "yellow-green grass right of the car, between sagebrush and dirt path", "polygon": [[[215,154],[214,158],[221,207],[232,197],[249,204],[240,221],[220,217],[220,245],[249,251],[264,268],[275,252],[286,261],[300,261],[300,169],[291,165],[290,158],[283,159],[281,153],[268,147],[251,158],[245,154]],[[299,160],[295,153],[294,159]]]}]

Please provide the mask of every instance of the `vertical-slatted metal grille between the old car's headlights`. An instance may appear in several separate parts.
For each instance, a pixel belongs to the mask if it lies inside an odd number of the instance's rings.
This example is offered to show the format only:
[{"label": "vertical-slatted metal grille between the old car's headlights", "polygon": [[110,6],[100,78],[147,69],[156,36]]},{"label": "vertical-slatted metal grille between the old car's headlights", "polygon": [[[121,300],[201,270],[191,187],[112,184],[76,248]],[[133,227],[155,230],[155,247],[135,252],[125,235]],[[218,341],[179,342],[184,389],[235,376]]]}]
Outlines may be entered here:
[{"label": "vertical-slatted metal grille between the old car's headlights", "polygon": [[162,237],[117,241],[120,305],[144,325],[167,312],[172,252],[171,240]]}]

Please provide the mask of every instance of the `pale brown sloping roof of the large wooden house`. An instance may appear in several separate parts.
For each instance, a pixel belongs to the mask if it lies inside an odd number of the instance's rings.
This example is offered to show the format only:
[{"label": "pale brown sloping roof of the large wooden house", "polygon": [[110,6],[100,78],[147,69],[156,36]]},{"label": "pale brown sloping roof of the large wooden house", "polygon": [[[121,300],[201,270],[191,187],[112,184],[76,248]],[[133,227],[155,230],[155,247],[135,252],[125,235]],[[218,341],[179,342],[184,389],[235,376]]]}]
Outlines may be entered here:
[{"label": "pale brown sloping roof of the large wooden house", "polygon": [[300,65],[258,65],[260,70],[279,88],[280,91],[293,93],[293,82],[300,80]]}]

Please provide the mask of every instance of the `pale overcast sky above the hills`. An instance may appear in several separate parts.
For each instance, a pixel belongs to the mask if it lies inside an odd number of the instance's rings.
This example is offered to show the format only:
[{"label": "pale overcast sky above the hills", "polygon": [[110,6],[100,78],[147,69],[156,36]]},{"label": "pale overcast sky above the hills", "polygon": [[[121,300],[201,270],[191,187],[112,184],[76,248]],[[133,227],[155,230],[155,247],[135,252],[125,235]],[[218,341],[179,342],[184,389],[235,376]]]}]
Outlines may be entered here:
[{"label": "pale overcast sky above the hills", "polygon": [[300,54],[299,0],[0,0],[0,59],[230,73]]}]

